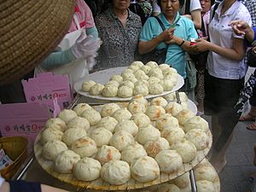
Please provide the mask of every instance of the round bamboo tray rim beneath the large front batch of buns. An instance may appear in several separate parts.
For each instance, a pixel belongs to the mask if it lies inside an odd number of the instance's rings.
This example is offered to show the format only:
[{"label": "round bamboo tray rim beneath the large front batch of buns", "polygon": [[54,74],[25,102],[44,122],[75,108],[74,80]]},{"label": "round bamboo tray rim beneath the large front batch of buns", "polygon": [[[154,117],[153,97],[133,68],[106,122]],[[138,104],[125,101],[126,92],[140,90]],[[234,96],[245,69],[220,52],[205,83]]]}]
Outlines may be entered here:
[{"label": "round bamboo tray rim beneath the large front batch of buns", "polygon": [[[120,102],[118,103],[121,108],[125,108],[128,103],[127,102]],[[100,110],[102,106],[95,106],[96,110]],[[154,125],[154,122],[152,122]],[[122,185],[111,185],[102,178],[98,178],[91,182],[84,182],[78,180],[76,177],[73,176],[73,174],[61,174],[59,172],[55,172],[54,169],[54,162],[51,160],[44,160],[42,156],[42,149],[43,146],[41,145],[40,137],[41,132],[38,134],[38,137],[35,140],[34,143],[34,153],[36,160],[38,160],[38,164],[42,166],[45,172],[48,172],[51,176],[58,178],[62,182],[72,184],[75,187],[83,188],[83,189],[96,189],[96,190],[130,190],[130,189],[143,189],[150,187],[152,185],[160,184],[160,183],[166,183],[178,176],[183,175],[185,172],[189,172],[189,170],[193,169],[195,166],[197,166],[201,160],[203,160],[208,152],[210,151],[212,147],[212,133],[210,130],[207,131],[207,136],[209,137],[209,144],[208,147],[204,150],[197,151],[196,157],[194,160],[190,161],[187,164],[183,164],[183,167],[178,171],[171,174],[166,174],[163,172],[160,172],[160,176],[154,179],[154,181],[148,182],[148,183],[139,183],[135,179],[131,177],[131,179]]]}]

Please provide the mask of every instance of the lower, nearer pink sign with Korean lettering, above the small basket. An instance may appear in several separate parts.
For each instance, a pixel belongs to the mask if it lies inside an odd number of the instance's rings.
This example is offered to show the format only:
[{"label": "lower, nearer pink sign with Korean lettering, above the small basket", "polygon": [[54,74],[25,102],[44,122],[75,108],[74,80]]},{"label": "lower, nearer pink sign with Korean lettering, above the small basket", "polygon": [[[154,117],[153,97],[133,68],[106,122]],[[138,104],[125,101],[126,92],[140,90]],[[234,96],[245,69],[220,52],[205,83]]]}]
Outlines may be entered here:
[{"label": "lower, nearer pink sign with Korean lettering, above the small basket", "polygon": [[49,119],[48,107],[43,103],[12,103],[0,105],[0,131],[3,137],[26,137],[29,149],[38,132],[44,128]]}]

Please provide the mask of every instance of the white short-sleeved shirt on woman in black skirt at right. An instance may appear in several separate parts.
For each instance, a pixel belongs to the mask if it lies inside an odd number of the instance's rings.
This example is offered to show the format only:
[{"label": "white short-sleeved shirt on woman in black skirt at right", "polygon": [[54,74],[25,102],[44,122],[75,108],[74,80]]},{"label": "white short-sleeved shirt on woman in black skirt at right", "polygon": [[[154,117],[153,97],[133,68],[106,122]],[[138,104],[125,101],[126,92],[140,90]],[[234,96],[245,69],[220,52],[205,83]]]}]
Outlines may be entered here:
[{"label": "white short-sleeved shirt on woman in black skirt at right", "polygon": [[[218,44],[224,48],[232,48],[232,38],[244,38],[244,36],[237,36],[233,32],[231,26],[228,26],[231,20],[245,20],[251,26],[252,20],[246,7],[241,1],[233,3],[224,15],[220,16],[220,10],[224,2],[218,5],[214,18],[209,24],[209,36],[213,44]],[[208,73],[213,77],[220,79],[241,79],[245,76],[247,66],[244,59],[241,61],[234,61],[218,55],[212,51],[209,52],[207,59]]]}]

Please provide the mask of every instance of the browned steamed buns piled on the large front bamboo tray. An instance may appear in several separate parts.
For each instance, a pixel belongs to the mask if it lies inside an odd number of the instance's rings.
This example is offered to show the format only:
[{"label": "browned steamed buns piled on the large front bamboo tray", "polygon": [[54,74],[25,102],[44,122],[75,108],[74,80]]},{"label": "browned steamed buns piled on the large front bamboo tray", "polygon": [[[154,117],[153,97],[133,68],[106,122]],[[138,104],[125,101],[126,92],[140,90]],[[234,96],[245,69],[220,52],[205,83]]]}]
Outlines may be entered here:
[{"label": "browned steamed buns piled on the large front bamboo tray", "polygon": [[55,172],[121,185],[131,178],[148,183],[160,173],[179,172],[197,151],[210,147],[208,133],[207,121],[185,106],[161,96],[148,102],[137,95],[122,105],[95,109],[79,103],[64,109],[46,122],[39,143]]}]

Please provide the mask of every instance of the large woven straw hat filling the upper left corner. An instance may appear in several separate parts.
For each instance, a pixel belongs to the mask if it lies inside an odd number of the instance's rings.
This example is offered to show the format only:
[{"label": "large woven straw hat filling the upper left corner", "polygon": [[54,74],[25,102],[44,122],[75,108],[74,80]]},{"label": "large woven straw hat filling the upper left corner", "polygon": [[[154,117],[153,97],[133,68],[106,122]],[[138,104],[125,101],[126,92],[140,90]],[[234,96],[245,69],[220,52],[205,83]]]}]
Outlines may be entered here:
[{"label": "large woven straw hat filling the upper left corner", "polygon": [[0,1],[0,84],[30,72],[66,34],[74,0]]}]

